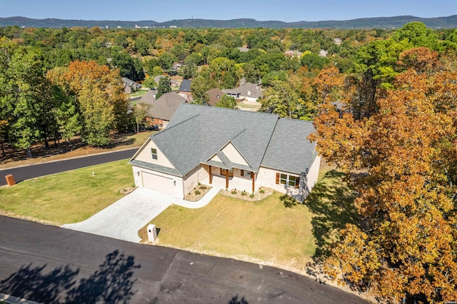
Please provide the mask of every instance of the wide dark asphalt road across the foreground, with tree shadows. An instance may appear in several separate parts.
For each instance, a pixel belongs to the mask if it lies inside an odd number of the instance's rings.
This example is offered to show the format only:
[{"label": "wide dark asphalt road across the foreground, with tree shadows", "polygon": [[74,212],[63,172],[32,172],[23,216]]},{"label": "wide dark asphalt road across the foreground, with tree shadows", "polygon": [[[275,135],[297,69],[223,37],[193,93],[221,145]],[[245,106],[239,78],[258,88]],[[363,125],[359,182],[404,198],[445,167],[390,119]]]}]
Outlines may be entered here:
[{"label": "wide dark asphalt road across the foreground, with tree shadows", "polygon": [[1,216],[0,293],[41,303],[367,303],[286,270]]}]

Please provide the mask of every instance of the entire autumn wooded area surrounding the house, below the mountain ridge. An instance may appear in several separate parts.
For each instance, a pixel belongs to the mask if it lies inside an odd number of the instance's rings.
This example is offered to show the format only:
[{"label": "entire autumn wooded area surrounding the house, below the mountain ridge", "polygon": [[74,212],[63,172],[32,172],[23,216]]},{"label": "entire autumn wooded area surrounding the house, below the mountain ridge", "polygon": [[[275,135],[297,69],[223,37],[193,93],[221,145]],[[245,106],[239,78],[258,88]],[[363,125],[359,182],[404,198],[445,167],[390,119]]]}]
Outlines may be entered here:
[{"label": "entire autumn wooded area surrounding the house, below the mountain ridge", "polygon": [[0,37],[2,144],[104,146],[138,122],[121,76],[153,83],[176,62],[196,103],[261,83],[261,111],[313,120],[318,152],[358,193],[360,221],[328,273],[383,298],[457,299],[457,30],[9,26]]}]

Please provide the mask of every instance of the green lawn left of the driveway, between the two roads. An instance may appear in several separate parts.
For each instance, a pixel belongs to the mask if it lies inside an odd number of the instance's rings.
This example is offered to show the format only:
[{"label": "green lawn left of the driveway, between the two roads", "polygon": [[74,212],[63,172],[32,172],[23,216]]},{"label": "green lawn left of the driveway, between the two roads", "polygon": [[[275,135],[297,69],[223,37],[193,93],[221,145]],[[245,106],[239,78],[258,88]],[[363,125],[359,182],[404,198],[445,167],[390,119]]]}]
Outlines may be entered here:
[{"label": "green lawn left of the driveway, between the two roads", "polygon": [[[93,216],[134,186],[128,160],[114,161],[0,188],[0,214],[61,225]],[[94,171],[94,176],[92,176]]]}]

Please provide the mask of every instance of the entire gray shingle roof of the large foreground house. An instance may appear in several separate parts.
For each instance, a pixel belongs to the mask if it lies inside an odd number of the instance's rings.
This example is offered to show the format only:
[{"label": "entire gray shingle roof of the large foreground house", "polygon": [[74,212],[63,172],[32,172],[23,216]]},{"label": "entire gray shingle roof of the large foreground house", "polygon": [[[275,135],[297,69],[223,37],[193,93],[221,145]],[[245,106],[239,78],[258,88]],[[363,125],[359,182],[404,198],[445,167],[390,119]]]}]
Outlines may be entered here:
[{"label": "entire gray shingle roof of the large foreground house", "polygon": [[[306,139],[313,130],[308,121],[279,118],[276,114],[181,103],[167,128],[151,136],[151,141],[179,176],[186,176],[199,163],[254,172],[266,166],[301,173],[317,155],[315,145]],[[228,143],[248,165],[230,161],[221,151]],[[217,161],[210,160],[214,155]]]}]

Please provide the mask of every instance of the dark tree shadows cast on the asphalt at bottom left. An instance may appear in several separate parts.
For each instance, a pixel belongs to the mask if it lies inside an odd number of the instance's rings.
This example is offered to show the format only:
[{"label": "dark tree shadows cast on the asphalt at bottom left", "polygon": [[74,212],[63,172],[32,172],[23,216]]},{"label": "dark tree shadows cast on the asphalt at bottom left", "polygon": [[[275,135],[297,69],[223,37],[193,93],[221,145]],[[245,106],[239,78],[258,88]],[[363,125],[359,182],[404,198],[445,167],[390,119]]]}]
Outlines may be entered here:
[{"label": "dark tree shadows cast on the asphalt at bottom left", "polygon": [[129,303],[136,280],[132,280],[134,257],[114,250],[106,255],[89,278],[77,280],[79,269],[64,267],[46,270],[46,264],[22,265],[16,273],[0,281],[1,293],[40,303]]}]

